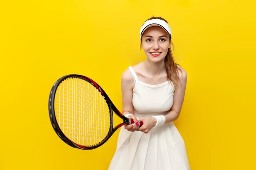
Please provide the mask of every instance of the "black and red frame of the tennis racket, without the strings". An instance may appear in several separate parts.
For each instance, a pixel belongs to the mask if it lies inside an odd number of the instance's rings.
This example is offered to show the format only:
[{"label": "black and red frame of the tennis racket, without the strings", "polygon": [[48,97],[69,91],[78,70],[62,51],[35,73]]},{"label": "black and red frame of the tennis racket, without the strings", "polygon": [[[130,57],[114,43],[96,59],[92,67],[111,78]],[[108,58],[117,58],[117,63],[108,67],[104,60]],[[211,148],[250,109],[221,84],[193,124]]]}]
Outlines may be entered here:
[{"label": "black and red frame of the tennis racket, without the strings", "polygon": [[[109,117],[110,117],[110,127],[109,127],[109,131],[108,131],[108,135],[98,144],[94,145],[94,146],[82,146],[79,144],[76,144],[74,141],[71,141],[68,137],[66,137],[64,135],[64,133],[61,131],[61,128],[58,126],[58,122],[56,120],[56,116],[55,116],[55,111],[54,111],[54,98],[55,98],[55,93],[56,90],[58,88],[58,85],[61,84],[61,82],[63,82],[65,79],[72,79],[72,78],[79,78],[79,79],[83,79],[87,82],[89,82],[90,84],[92,84],[92,86],[94,86],[99,93],[101,93],[101,95],[103,96],[103,98],[105,99],[106,103],[108,104],[108,109],[109,109]],[[113,128],[113,111],[121,118],[123,119],[123,123],[118,124],[117,126],[115,126],[115,128]],[[99,84],[97,84],[96,82],[94,82],[92,79],[90,79],[89,77],[85,77],[83,75],[77,75],[77,74],[70,74],[70,75],[65,75],[61,78],[59,78],[54,85],[52,86],[50,95],[49,95],[49,117],[52,123],[52,127],[54,128],[56,134],[68,145],[74,147],[74,148],[78,148],[78,149],[83,149],[83,150],[90,150],[90,149],[95,149],[98,148],[99,146],[103,145],[106,141],[108,141],[108,139],[114,134],[114,132],[119,129],[121,126],[123,126],[124,124],[133,124],[133,120],[132,119],[128,119],[127,117],[125,117],[121,112],[119,112],[119,110],[116,108],[116,106],[112,103],[112,101],[110,100],[110,98],[108,97],[108,95],[105,93],[105,91],[101,88],[101,86],[99,86]],[[141,122],[142,123],[142,122]],[[142,125],[142,124],[141,124]]]}]

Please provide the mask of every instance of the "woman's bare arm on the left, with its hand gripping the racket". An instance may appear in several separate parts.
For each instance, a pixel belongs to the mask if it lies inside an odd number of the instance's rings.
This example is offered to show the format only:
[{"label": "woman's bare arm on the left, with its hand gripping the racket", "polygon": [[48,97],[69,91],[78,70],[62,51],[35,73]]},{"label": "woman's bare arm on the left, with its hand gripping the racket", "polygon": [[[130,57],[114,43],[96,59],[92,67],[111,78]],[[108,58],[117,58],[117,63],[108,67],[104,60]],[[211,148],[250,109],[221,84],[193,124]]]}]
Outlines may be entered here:
[{"label": "woman's bare arm on the left, with its hand gripping the racket", "polygon": [[[132,105],[132,89],[135,84],[133,82],[132,74],[130,70],[124,71],[121,77],[121,90],[122,90],[122,102],[123,102],[123,115],[132,114],[128,118],[133,119],[134,122],[138,122],[137,118],[133,115],[133,105]],[[139,128],[136,124],[124,125],[124,128],[128,131],[135,131]]]}]

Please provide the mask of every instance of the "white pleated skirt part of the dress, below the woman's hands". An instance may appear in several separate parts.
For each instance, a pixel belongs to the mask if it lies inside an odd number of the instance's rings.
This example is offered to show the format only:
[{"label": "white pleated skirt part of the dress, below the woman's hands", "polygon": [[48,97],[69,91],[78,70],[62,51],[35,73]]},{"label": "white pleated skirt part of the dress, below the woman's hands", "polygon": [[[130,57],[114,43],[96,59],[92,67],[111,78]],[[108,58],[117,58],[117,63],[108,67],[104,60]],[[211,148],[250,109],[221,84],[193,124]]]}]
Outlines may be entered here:
[{"label": "white pleated skirt part of the dress, below the woman's hands", "polygon": [[121,128],[108,170],[190,170],[184,140],[173,122],[147,134]]}]

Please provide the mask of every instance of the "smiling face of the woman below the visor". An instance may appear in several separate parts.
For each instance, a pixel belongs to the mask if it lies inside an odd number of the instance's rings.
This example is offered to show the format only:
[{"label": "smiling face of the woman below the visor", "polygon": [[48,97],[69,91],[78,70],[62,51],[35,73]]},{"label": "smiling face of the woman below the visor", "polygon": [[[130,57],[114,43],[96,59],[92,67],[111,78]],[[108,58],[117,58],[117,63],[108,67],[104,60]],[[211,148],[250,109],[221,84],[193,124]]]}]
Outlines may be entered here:
[{"label": "smiling face of the woman below the visor", "polygon": [[160,26],[152,26],[143,33],[141,47],[148,60],[160,62],[164,60],[168,48],[171,47],[170,35]]}]

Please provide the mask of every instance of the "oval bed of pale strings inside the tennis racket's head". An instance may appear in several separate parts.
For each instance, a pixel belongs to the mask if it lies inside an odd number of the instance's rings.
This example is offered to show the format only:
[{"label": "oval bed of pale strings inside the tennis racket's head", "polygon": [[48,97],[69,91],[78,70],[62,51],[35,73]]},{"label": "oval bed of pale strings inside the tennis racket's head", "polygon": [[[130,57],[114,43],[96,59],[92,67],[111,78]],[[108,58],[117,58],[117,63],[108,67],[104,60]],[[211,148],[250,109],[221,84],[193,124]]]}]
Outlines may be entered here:
[{"label": "oval bed of pale strings inside the tennis racket's head", "polygon": [[108,135],[108,104],[89,82],[79,78],[63,80],[56,90],[54,108],[61,131],[74,143],[94,146]]}]

